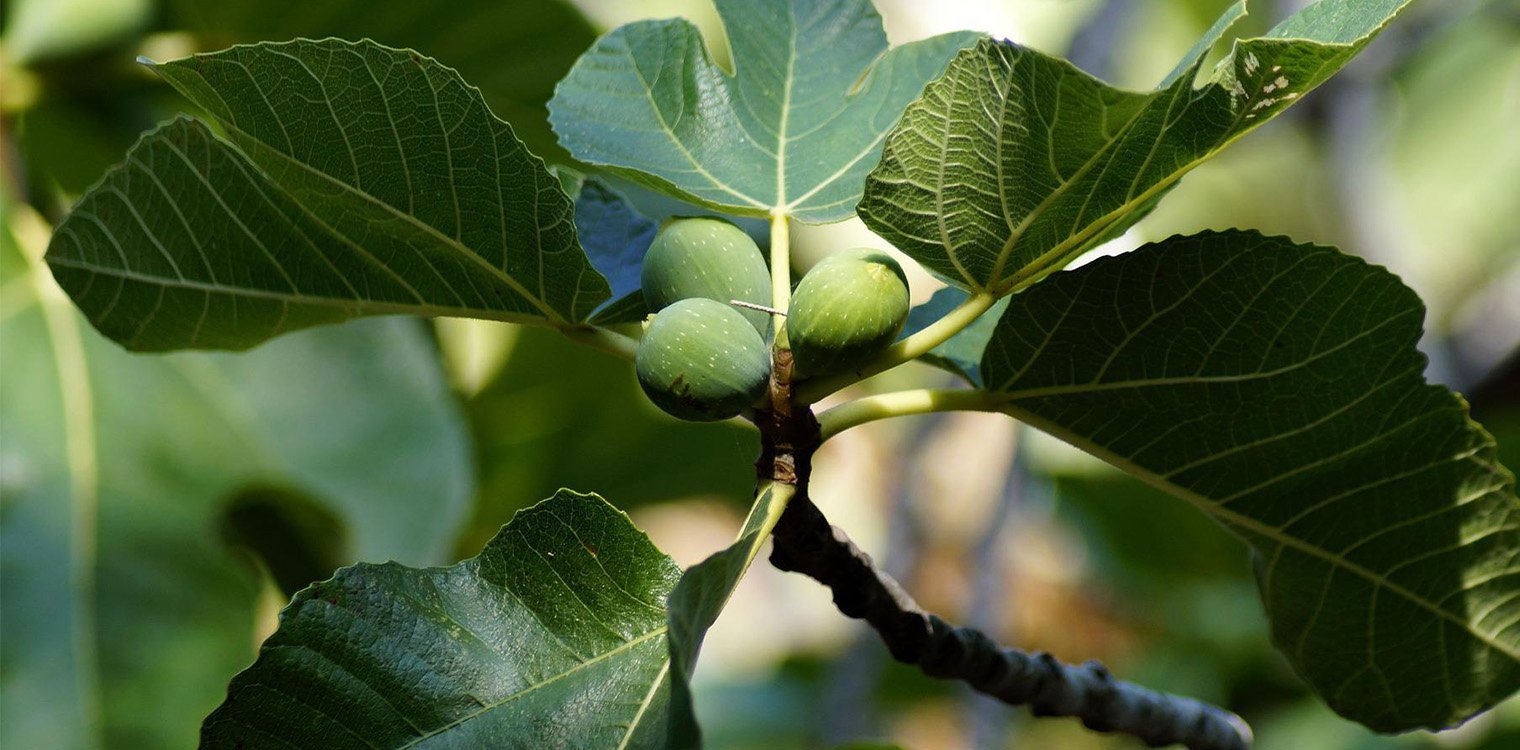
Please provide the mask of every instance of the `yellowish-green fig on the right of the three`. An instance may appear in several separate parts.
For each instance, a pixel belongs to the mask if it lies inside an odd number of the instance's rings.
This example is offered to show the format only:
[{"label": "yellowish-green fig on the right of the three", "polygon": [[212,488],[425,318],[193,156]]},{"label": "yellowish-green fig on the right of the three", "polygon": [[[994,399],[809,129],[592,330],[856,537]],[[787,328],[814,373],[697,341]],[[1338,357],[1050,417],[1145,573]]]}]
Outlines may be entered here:
[{"label": "yellowish-green fig on the right of the three", "polygon": [[907,277],[886,253],[828,256],[796,284],[786,335],[801,377],[853,370],[882,351],[907,321]]}]

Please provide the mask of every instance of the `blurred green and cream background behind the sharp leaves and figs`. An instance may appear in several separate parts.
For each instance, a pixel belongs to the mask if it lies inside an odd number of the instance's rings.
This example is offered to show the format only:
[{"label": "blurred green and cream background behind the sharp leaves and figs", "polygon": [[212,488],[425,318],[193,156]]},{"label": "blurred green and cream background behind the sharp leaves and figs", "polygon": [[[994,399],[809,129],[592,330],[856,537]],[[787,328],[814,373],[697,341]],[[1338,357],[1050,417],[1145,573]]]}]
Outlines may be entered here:
[{"label": "blurred green and cream background behind the sharp leaves and figs", "polygon": [[[1160,81],[1224,5],[879,2],[895,43],[977,29],[1129,87]],[[1239,32],[1297,5],[1256,2]],[[667,15],[696,20],[724,58],[705,0],[6,3],[0,745],[190,747],[293,590],[356,560],[468,557],[558,487],[629,510],[682,564],[728,543],[752,438],[658,414],[626,364],[555,333],[385,319],[248,354],[134,356],[96,336],[36,260],[70,201],[187,110],[138,55],[328,35],[415,47],[565,161],[544,123],[553,84],[596,33]],[[625,189],[651,216],[692,213]],[[1100,253],[1227,227],[1335,243],[1398,272],[1429,306],[1429,376],[1468,394],[1520,467],[1520,3],[1415,3]],[[793,239],[800,268],[880,245],[859,222]],[[920,301],[933,291],[926,275],[914,284]],[[860,388],[944,377],[910,367]],[[819,456],[815,496],[927,607],[1222,703],[1263,750],[1520,747],[1517,700],[1441,735],[1383,738],[1336,718],[1266,642],[1242,545],[1006,418],[847,434]],[[710,636],[698,682],[714,748],[1138,747],[900,668],[822,589],[766,566]]]}]

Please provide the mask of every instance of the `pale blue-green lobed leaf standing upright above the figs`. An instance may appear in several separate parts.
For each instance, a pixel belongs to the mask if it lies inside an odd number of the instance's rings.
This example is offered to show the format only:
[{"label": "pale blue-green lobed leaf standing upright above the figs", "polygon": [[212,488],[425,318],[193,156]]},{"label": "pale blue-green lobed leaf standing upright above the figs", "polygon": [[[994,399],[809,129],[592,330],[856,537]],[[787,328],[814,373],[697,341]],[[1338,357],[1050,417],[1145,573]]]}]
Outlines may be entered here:
[{"label": "pale blue-green lobed leaf standing upright above the figs", "polygon": [[708,208],[850,218],[882,140],[973,33],[888,50],[869,0],[716,0],[734,73],[686,20],[597,40],[549,102],[576,158]]}]

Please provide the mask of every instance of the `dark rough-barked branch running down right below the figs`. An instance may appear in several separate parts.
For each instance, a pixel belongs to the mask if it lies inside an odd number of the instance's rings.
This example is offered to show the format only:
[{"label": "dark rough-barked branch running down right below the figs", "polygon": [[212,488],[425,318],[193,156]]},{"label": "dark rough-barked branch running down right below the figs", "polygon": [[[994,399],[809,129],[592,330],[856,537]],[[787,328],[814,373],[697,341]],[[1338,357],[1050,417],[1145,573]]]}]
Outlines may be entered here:
[{"label": "dark rough-barked branch running down right below the figs", "polygon": [[[806,476],[806,475],[804,475]],[[892,659],[930,677],[962,680],[1037,717],[1075,717],[1096,732],[1119,732],[1152,747],[1246,750],[1251,729],[1224,709],[1116,680],[1097,662],[1061,663],[1047,653],[1003,648],[918,607],[871,555],[850,542],[798,484],[772,534],[771,563],[827,586],[845,616],[866,621]]]}]

